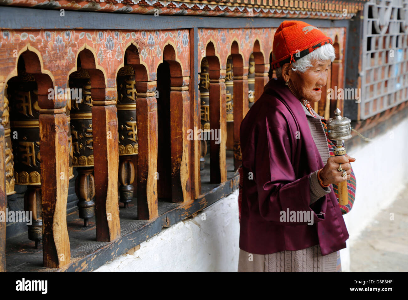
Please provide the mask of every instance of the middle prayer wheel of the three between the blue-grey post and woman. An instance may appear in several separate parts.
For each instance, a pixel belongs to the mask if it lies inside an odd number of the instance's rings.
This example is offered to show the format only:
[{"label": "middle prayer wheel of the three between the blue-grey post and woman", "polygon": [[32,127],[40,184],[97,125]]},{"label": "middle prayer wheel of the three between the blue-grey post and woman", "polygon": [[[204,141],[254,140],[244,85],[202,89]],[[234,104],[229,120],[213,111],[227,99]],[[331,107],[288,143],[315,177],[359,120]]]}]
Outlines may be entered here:
[{"label": "middle prayer wheel of the three between the blue-grey post and woman", "polygon": [[233,72],[233,58],[228,56],[226,64],[226,121],[227,121],[227,140],[226,148],[228,150],[234,149],[234,72]]}]

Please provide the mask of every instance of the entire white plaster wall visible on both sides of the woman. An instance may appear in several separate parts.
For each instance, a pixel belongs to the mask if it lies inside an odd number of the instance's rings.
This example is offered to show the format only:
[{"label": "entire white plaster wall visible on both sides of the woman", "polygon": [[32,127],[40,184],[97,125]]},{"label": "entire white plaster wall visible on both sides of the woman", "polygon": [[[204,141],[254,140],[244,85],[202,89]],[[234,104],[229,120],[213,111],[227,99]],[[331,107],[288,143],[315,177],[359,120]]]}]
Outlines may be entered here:
[{"label": "entire white plaster wall visible on both sides of the woman", "polygon": [[[344,215],[350,234],[341,249],[341,267],[350,270],[350,246],[359,233],[387,207],[408,182],[408,119],[371,143],[350,149],[356,161],[356,200]],[[124,254],[95,271],[237,271],[239,253],[238,191],[199,213],[164,229],[140,244],[133,254]]]}]

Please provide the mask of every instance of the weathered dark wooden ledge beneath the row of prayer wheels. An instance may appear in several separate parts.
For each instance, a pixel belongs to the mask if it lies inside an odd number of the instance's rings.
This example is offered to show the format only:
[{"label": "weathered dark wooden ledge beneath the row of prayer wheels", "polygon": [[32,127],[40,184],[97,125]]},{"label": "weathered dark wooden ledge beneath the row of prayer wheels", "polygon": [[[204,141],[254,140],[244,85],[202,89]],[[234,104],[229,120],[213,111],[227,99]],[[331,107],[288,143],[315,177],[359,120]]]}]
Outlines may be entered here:
[{"label": "weathered dark wooden ledge beneath the row of prayer wheels", "polygon": [[[233,169],[233,152],[227,151],[228,170]],[[113,242],[95,241],[95,218],[84,228],[78,212],[68,216],[69,238],[72,246],[71,263],[60,269],[45,269],[41,266],[41,251],[27,247],[27,238],[20,235],[10,238],[7,243],[8,271],[92,271],[109,260],[121,256],[141,242],[189,216],[202,211],[217,200],[228,196],[238,188],[239,175],[228,171],[228,180],[222,184],[211,184],[209,157],[206,157],[206,169],[202,171],[202,192],[200,198],[186,203],[159,201],[158,218],[155,220],[135,220],[137,205],[135,200],[129,209],[120,210],[122,236]],[[25,264],[21,262],[24,261]]]}]

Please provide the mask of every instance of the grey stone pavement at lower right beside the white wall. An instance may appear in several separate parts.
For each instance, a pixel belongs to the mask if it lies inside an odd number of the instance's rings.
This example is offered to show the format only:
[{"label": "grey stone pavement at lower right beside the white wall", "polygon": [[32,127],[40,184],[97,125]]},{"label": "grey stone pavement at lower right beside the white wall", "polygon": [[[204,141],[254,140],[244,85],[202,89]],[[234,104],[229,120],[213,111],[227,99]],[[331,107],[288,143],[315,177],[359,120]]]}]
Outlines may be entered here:
[{"label": "grey stone pavement at lower right beside the white wall", "polygon": [[408,271],[408,185],[350,246],[350,271]]}]

